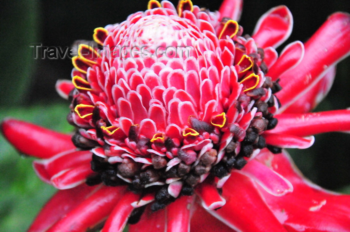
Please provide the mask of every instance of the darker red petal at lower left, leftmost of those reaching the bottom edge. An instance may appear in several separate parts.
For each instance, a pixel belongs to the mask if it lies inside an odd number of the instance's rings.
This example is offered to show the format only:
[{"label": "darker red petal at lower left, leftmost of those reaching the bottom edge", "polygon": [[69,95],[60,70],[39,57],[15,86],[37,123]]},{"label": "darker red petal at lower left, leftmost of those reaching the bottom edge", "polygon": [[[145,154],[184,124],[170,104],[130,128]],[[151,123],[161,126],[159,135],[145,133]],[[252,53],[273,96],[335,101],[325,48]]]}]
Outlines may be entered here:
[{"label": "darker red petal at lower left, leftmost of those reaching the bottom edge", "polygon": [[96,187],[79,185],[73,189],[58,191],[41,209],[28,232],[45,232],[65,214],[78,206]]}]

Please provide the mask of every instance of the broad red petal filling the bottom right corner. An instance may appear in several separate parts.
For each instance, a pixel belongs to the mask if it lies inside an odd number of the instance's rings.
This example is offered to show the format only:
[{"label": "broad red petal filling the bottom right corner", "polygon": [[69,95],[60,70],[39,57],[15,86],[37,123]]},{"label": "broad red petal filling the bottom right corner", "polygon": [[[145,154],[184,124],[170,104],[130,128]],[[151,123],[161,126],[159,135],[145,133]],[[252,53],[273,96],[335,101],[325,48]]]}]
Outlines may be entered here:
[{"label": "broad red petal filling the bottom right corner", "polygon": [[350,196],[335,195],[303,179],[284,152],[268,151],[258,156],[277,173],[291,181],[294,190],[281,197],[261,193],[278,220],[290,232],[348,232],[350,226]]}]

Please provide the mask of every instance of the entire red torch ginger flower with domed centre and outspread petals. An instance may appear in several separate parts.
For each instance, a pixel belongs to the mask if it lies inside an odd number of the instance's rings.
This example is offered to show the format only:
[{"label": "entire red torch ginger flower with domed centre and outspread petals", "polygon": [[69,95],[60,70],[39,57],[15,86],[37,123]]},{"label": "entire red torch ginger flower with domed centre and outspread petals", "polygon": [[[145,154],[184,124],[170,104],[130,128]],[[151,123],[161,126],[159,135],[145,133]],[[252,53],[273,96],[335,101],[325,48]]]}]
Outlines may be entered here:
[{"label": "entire red torch ginger flower with domed centre and outspread petals", "polygon": [[350,16],[332,14],[278,56],[287,7],[262,15],[251,36],[240,10],[239,0],[217,12],[150,0],[96,28],[72,80],[57,82],[72,136],[1,124],[59,189],[29,232],[349,231],[350,197],[310,184],[282,149],[350,130],[349,110],[308,113],[350,51]]}]

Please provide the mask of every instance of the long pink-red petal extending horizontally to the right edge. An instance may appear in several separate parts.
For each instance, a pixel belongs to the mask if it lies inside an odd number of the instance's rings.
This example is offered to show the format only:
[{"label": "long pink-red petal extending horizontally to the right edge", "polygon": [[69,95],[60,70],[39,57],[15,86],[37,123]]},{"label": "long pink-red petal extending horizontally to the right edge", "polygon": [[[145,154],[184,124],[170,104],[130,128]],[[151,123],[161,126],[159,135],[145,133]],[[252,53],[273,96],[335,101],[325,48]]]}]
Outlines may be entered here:
[{"label": "long pink-red petal extending horizontally to the right edge", "polygon": [[350,110],[306,114],[278,114],[277,126],[269,133],[309,136],[319,133],[350,131]]}]

